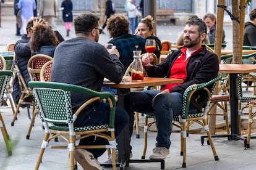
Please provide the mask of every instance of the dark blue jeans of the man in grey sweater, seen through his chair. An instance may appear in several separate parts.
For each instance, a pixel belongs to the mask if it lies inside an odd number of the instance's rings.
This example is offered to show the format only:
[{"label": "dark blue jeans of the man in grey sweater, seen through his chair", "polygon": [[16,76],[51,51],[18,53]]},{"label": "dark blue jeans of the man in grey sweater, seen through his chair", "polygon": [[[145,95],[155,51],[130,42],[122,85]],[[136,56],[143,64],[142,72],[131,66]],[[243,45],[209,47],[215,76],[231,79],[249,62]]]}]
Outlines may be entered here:
[{"label": "dark blue jeans of the man in grey sweater, seen through his chair", "polygon": [[[81,122],[81,121],[79,121]],[[115,137],[117,137],[122,129],[129,122],[128,113],[122,108],[116,107],[116,115],[114,118],[114,130]],[[109,123],[109,104],[103,102],[96,102],[93,105],[93,109],[88,113],[88,115],[83,119],[79,126],[96,126],[98,124],[108,124]],[[108,144],[108,140],[100,137],[86,137],[81,139],[79,145],[105,145]],[[87,149],[89,152],[93,153],[95,158],[100,157],[106,151],[105,148],[99,149]]]}]

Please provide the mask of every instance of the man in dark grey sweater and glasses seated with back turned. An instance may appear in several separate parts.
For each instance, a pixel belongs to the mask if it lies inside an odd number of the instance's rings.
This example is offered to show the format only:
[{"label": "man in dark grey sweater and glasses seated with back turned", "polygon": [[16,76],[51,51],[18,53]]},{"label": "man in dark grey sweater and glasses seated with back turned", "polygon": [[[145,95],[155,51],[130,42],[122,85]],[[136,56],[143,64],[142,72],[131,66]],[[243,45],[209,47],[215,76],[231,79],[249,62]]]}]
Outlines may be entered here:
[{"label": "man in dark grey sweater and glasses seated with back turned", "polygon": [[[56,47],[51,70],[51,81],[87,87],[94,91],[101,91],[103,78],[108,78],[113,83],[120,83],[124,75],[124,67],[119,60],[119,52],[114,46],[107,51],[98,43],[102,29],[99,26],[100,18],[92,14],[82,14],[75,18],[76,38],[61,42]],[[88,95],[71,94],[72,111],[75,111],[88,100]],[[116,108],[115,136],[124,129],[129,122],[127,112]],[[108,124],[109,104],[95,101],[79,114],[75,126],[96,126]],[[79,145],[103,145],[108,140],[90,136],[81,139]],[[83,169],[102,169],[97,158],[106,151],[99,149],[77,149],[74,158]]]}]

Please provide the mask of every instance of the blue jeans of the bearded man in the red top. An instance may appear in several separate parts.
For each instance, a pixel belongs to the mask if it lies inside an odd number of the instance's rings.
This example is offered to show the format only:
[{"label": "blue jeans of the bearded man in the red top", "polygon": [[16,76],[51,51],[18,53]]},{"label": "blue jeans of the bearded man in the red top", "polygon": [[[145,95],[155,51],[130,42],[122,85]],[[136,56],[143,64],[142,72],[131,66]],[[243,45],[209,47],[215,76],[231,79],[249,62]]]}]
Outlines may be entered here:
[{"label": "blue jeans of the bearded man in the red top", "polygon": [[[182,94],[171,92],[158,95],[153,103],[152,100],[160,91],[134,91],[130,92],[130,111],[133,113],[153,114],[156,117],[158,134],[156,136],[156,147],[169,148],[171,145],[171,123],[174,115],[182,113]],[[197,113],[198,110],[190,105],[189,113]],[[132,131],[132,128],[130,128]]]}]

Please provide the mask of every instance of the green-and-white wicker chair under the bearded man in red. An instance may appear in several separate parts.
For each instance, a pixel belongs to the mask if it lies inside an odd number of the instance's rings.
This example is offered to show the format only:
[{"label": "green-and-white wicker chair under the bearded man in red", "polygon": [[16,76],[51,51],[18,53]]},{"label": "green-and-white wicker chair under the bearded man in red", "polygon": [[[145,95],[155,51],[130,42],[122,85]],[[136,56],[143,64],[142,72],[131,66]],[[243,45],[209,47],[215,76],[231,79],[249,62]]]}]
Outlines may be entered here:
[{"label": "green-and-white wicker chair under the bearded man in red", "polygon": [[[219,160],[218,155],[215,150],[215,146],[213,144],[213,140],[211,139],[211,134],[208,128],[208,118],[207,113],[210,107],[211,102],[211,95],[213,94],[213,91],[215,89],[215,84],[217,81],[221,79],[221,75],[218,75],[215,79],[212,79],[211,81],[208,81],[206,83],[202,84],[193,84],[189,87],[187,87],[186,91],[183,94],[183,103],[182,103],[182,114],[180,116],[174,116],[173,118],[173,126],[179,127],[181,129],[181,155],[183,155],[183,163],[182,167],[186,168],[186,156],[187,156],[187,150],[186,150],[186,137],[187,133],[192,132],[198,132],[198,130],[189,130],[189,127],[193,123],[197,123],[202,126],[201,132],[207,132],[208,140],[211,145],[211,150],[213,151],[213,155],[215,160]],[[211,86],[210,90],[207,89],[208,86]],[[195,113],[195,114],[189,114],[189,105],[190,105],[190,99],[192,95],[197,91],[205,91],[207,92],[208,99],[205,103],[205,106],[203,107],[203,113]],[[150,132],[150,126],[154,123],[148,123],[147,118],[155,118],[153,115],[146,115],[145,119],[145,127],[144,127],[144,149],[142,154],[142,159],[145,159],[145,155],[147,152],[147,132]],[[154,131],[153,131],[154,132]]]}]

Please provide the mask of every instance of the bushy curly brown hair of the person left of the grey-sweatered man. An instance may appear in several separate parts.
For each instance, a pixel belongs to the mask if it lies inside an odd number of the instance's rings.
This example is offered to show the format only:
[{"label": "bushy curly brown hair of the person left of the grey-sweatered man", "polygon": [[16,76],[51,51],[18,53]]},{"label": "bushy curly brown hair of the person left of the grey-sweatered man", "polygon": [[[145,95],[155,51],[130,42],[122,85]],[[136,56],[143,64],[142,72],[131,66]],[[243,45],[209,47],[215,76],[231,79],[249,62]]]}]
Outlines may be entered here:
[{"label": "bushy curly brown hair of the person left of the grey-sweatered man", "polygon": [[58,46],[59,40],[53,29],[45,23],[37,23],[33,26],[33,33],[30,38],[31,51],[39,51],[41,46]]}]

